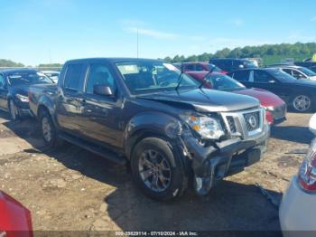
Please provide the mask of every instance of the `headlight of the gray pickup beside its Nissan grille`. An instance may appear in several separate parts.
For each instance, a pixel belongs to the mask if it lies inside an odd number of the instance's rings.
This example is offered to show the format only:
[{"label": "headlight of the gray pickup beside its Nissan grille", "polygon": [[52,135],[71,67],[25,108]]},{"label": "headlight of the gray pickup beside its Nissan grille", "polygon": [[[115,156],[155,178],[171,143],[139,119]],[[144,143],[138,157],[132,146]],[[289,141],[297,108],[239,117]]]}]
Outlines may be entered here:
[{"label": "headlight of the gray pickup beside its Nissan grille", "polygon": [[204,139],[219,139],[225,135],[218,119],[204,116],[181,116],[181,118]]}]

